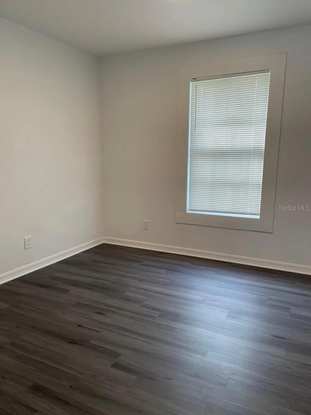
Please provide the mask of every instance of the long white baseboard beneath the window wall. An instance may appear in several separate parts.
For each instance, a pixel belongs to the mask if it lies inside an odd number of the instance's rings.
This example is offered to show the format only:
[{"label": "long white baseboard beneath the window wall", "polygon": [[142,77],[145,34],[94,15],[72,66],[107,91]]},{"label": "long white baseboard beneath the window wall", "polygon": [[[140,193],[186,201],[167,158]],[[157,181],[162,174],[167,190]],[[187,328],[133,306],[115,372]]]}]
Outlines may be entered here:
[{"label": "long white baseboard beneath the window wall", "polygon": [[296,272],[299,274],[311,275],[311,266],[291,264],[289,262],[270,261],[267,259],[250,258],[248,256],[229,255],[227,253],[217,253],[201,251],[198,249],[181,248],[170,245],[154,244],[150,242],[131,241],[127,239],[104,237],[104,242],[112,245],[122,245],[132,248],[147,249],[167,253],[177,253],[179,255],[195,256],[198,258],[213,259],[216,261],[231,262],[234,264],[250,265],[252,267],[268,268],[270,270]]}]

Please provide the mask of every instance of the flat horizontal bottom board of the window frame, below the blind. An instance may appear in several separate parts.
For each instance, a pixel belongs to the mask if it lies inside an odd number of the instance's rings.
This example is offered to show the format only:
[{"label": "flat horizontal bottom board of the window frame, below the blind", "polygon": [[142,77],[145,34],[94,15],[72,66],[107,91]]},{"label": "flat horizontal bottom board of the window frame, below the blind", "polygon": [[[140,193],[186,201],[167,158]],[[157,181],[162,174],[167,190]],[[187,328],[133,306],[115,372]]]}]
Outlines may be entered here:
[{"label": "flat horizontal bottom board of the window frame, below the blind", "polygon": [[188,225],[273,233],[273,220],[266,220],[263,218],[256,219],[249,217],[176,212],[175,222]]}]

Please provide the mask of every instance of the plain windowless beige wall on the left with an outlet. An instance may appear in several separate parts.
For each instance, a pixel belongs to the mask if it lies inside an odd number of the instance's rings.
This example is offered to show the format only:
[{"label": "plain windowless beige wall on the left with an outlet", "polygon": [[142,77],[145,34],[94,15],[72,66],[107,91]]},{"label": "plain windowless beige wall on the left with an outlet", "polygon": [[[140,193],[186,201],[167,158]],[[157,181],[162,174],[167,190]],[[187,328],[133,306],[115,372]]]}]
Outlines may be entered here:
[{"label": "plain windowless beige wall on the left with an outlet", "polygon": [[102,236],[98,75],[90,55],[0,19],[0,274]]}]

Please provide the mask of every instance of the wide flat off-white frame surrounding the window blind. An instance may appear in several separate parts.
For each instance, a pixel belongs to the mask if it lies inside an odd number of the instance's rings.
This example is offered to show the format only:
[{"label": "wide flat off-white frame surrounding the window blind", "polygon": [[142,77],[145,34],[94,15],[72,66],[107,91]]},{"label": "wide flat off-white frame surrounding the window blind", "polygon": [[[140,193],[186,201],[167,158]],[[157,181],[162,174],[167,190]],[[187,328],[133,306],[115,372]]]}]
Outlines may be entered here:
[{"label": "wide flat off-white frame surrounding the window blind", "polygon": [[[273,233],[276,177],[280,141],[286,53],[222,61],[207,61],[183,68],[178,74],[178,181],[175,222],[219,228]],[[188,213],[187,177],[189,151],[190,80],[245,72],[270,71],[269,102],[264,150],[261,209],[259,218]]]}]

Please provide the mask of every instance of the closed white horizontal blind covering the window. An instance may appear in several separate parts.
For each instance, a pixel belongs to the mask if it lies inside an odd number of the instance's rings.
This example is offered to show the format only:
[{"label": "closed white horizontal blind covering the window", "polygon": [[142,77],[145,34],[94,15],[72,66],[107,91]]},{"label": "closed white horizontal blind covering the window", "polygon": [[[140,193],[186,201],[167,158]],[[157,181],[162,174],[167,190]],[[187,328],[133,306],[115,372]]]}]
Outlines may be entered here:
[{"label": "closed white horizontal blind covering the window", "polygon": [[192,79],[187,212],[260,217],[270,72]]}]

